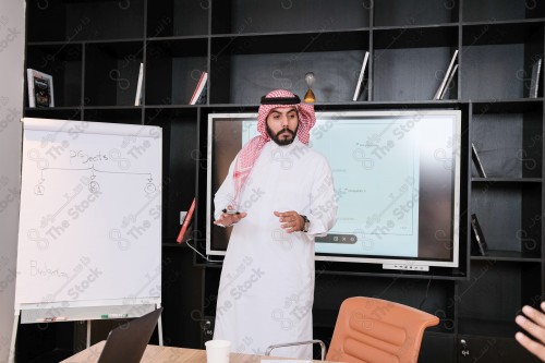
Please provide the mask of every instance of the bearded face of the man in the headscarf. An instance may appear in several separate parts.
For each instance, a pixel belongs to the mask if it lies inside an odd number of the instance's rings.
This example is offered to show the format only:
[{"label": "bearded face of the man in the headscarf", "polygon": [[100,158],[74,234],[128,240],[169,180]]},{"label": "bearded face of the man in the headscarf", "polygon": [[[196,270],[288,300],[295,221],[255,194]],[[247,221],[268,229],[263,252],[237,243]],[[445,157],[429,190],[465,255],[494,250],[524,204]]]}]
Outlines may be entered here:
[{"label": "bearded face of the man in the headscarf", "polygon": [[274,108],[267,116],[267,133],[278,145],[289,145],[295,140],[299,114],[295,107]]}]

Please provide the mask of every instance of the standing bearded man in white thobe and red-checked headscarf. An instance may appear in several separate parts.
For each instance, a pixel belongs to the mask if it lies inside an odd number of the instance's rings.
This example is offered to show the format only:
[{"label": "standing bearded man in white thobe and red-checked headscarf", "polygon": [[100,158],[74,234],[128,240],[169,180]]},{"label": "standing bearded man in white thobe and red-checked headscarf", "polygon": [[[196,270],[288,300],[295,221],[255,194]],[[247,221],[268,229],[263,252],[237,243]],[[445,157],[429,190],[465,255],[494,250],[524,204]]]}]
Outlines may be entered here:
[{"label": "standing bearded man in white thobe and red-checked headscarf", "polygon": [[[278,89],[262,98],[259,136],[231,164],[215,196],[215,223],[233,226],[218,291],[215,339],[232,352],[312,339],[314,237],[336,221],[327,160],[307,146],[314,106]],[[312,359],[312,346],[275,355]]]}]

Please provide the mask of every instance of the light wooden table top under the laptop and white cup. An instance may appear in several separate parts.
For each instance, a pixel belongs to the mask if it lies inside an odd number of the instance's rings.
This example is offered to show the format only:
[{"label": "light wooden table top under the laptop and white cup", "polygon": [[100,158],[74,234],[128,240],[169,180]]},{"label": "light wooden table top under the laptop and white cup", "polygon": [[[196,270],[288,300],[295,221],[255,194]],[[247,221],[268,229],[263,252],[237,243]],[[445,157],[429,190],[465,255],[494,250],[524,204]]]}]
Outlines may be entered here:
[{"label": "light wooden table top under the laptop and white cup", "polygon": [[[96,363],[100,356],[106,340],[102,340],[80,353],[62,361],[61,363]],[[255,354],[231,353],[229,363],[261,363],[264,360],[279,360],[275,356],[264,356]],[[280,358],[281,360],[281,358]],[[141,363],[206,363],[206,351],[199,349],[187,349],[178,347],[147,346]],[[301,363],[312,361],[299,361]],[[320,362],[322,361],[315,361]]]}]

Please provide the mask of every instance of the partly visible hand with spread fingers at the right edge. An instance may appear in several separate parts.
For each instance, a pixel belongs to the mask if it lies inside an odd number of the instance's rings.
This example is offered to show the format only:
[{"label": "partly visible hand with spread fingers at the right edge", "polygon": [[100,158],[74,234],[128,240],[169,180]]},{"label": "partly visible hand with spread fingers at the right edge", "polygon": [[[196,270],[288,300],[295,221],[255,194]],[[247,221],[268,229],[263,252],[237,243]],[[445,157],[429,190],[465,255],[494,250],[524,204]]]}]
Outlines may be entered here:
[{"label": "partly visible hand with spread fingers at the right edge", "polygon": [[535,340],[530,339],[520,331],[514,335],[514,338],[522,347],[542,361],[545,361],[545,314],[543,313],[543,311],[545,311],[545,302],[542,302],[541,308],[542,312],[531,306],[524,306],[522,307],[522,312],[525,317],[518,315],[514,319],[517,324],[530,332]]}]

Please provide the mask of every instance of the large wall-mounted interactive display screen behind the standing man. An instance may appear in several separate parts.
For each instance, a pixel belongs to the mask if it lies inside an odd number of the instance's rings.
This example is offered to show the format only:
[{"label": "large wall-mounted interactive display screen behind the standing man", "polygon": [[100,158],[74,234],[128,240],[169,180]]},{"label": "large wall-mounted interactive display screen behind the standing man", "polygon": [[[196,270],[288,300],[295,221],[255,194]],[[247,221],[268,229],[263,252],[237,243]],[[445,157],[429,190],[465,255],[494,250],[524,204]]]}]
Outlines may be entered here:
[{"label": "large wall-mounted interactive display screen behind the standing man", "polygon": [[[214,194],[241,147],[257,135],[255,113],[208,116],[206,253],[225,254]],[[384,268],[458,267],[458,110],[316,112],[310,146],[331,167],[338,220],[316,238],[316,259]]]}]

